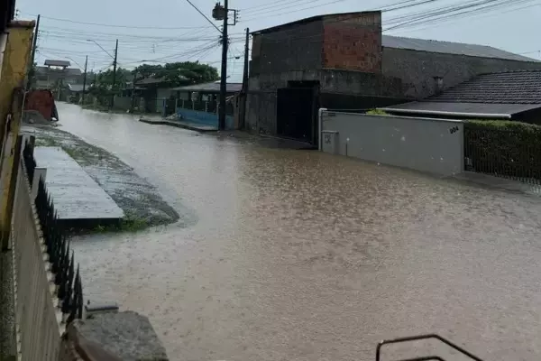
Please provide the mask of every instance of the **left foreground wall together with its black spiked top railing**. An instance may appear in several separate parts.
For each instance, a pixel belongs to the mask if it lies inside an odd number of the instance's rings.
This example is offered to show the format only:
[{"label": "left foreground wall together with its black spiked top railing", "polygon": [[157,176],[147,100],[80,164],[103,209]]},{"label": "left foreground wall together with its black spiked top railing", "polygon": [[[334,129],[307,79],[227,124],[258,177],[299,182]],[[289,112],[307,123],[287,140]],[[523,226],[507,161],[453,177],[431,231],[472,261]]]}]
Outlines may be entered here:
[{"label": "left foreground wall together with its black spiked top railing", "polygon": [[43,180],[32,199],[34,169],[32,147],[26,144],[11,232],[17,351],[23,361],[57,361],[66,325],[82,318],[82,283]]}]

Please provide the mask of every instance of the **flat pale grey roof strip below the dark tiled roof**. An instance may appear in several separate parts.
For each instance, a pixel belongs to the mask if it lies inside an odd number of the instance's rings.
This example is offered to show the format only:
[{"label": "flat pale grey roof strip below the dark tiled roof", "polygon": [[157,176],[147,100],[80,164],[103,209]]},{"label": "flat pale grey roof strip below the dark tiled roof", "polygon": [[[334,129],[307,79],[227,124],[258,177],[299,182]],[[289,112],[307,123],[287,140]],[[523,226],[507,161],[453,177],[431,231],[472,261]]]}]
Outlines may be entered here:
[{"label": "flat pale grey roof strip below the dark tiled roof", "polygon": [[397,106],[381,108],[391,114],[421,116],[460,116],[476,118],[510,118],[514,114],[541,107],[532,104],[496,104],[496,103],[442,103],[418,101]]}]

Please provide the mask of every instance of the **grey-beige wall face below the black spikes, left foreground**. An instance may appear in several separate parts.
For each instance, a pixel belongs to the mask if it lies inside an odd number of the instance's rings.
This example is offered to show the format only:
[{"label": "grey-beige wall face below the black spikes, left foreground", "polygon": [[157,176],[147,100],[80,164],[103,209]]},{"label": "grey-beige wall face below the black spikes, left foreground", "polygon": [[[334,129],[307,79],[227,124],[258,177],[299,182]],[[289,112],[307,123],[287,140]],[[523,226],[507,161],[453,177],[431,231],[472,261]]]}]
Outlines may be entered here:
[{"label": "grey-beige wall face below the black spikes, left foreground", "polygon": [[14,304],[18,350],[22,360],[60,360],[62,314],[54,294],[54,274],[31,198],[23,163],[14,201],[11,244],[14,249]]}]

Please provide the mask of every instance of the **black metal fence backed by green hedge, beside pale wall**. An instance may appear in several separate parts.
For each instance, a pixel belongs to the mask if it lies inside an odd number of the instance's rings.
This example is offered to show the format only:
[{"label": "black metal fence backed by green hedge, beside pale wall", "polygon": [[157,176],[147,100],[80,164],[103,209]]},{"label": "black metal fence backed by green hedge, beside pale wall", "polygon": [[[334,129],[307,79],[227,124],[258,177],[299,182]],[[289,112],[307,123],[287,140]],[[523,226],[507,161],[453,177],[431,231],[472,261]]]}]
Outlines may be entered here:
[{"label": "black metal fence backed by green hedge, beside pale wall", "polygon": [[464,166],[466,171],[541,185],[541,132],[464,124]]}]

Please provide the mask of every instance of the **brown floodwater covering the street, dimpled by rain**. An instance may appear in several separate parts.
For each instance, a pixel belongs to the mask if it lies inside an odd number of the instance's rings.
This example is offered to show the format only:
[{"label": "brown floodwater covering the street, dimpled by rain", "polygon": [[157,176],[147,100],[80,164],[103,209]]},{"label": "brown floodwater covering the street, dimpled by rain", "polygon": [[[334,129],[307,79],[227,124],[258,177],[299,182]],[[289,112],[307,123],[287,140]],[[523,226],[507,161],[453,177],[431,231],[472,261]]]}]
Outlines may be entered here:
[{"label": "brown floodwater covering the street, dimpled by rain", "polygon": [[193,220],[76,245],[87,299],[149,316],[171,360],[368,361],[381,338],[426,332],[541,357],[541,199],[59,112]]}]

